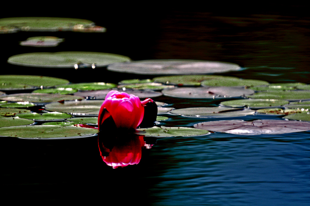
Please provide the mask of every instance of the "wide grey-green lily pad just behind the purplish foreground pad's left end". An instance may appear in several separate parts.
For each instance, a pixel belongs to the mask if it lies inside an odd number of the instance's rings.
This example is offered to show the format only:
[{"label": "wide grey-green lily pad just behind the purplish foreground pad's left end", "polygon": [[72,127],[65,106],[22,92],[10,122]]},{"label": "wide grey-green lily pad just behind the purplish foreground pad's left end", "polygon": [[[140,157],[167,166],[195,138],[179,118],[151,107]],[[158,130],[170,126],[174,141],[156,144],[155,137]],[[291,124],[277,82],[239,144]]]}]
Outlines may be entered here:
[{"label": "wide grey-green lily pad just behind the purplish foreground pad's left end", "polygon": [[250,109],[232,109],[229,107],[192,107],[184,109],[175,109],[170,111],[172,114],[180,114],[185,116],[246,116],[255,113]]}]

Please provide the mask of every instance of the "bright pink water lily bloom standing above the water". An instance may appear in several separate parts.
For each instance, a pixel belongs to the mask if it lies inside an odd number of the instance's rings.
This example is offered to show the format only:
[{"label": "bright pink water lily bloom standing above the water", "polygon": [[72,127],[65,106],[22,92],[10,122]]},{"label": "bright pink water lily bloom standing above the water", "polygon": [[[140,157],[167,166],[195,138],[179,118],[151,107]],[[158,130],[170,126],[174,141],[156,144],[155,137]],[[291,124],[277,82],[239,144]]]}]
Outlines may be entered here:
[{"label": "bright pink water lily bloom standing above the water", "polygon": [[[144,107],[139,97],[125,92],[111,90],[101,105],[98,116],[98,128],[112,116],[117,128],[135,129],[143,120]],[[111,122],[111,120],[109,120]],[[108,126],[108,125],[106,125]]]}]

